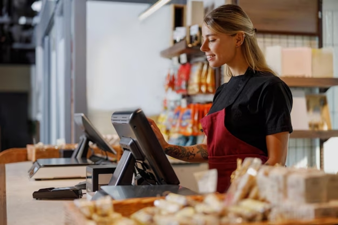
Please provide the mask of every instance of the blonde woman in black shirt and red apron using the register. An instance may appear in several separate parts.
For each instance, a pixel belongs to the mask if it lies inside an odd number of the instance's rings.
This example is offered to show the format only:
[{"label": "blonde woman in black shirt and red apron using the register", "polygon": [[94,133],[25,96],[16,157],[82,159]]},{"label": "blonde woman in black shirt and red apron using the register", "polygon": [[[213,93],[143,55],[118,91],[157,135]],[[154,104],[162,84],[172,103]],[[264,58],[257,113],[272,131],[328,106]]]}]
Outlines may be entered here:
[{"label": "blonde woman in black shirt and red apron using the register", "polygon": [[232,76],[221,85],[213,105],[201,120],[202,144],[169,145],[150,123],[166,154],[189,162],[208,162],[218,170],[217,191],[224,192],[236,170],[237,158],[261,158],[266,165],[285,165],[292,95],[288,86],[267,66],[257,44],[256,29],[236,5],[211,11],[202,26],[203,43],[211,67],[227,66]]}]

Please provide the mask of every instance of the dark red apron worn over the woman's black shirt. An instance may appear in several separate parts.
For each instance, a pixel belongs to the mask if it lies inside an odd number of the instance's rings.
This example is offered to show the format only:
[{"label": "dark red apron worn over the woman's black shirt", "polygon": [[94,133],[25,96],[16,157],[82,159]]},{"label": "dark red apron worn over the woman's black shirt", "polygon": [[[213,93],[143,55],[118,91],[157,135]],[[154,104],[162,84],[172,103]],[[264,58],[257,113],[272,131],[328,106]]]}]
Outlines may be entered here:
[{"label": "dark red apron worn over the woman's black shirt", "polygon": [[[235,89],[235,93],[225,105],[232,104],[243,90],[249,78],[244,78],[241,86]],[[257,157],[265,163],[268,159],[266,153],[251,146],[232,135],[225,127],[225,108],[205,116],[201,119],[201,125],[207,136],[209,155],[209,169],[217,169],[217,192],[224,193],[230,186],[230,176],[237,168],[237,158]]]}]

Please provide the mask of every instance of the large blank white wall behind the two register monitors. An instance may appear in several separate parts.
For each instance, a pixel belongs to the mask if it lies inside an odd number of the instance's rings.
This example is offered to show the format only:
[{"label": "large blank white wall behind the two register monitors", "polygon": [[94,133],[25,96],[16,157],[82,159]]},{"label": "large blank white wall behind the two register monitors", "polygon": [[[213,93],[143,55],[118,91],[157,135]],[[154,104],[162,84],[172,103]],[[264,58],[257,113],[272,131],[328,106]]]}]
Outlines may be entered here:
[{"label": "large blank white wall behind the two register monitors", "polygon": [[169,47],[171,13],[164,6],[139,21],[148,7],[87,1],[88,111],[102,133],[112,131],[110,116],[116,109],[141,107],[146,115],[161,111],[170,60],[160,51]]}]

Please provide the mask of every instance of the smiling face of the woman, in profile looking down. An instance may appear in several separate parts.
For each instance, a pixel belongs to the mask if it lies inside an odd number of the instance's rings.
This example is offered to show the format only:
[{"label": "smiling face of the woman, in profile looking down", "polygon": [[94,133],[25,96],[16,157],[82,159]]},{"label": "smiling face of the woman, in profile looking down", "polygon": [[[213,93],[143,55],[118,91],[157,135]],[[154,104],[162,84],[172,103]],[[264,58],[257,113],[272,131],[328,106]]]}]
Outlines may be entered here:
[{"label": "smiling face of the woman, in profile looking down", "polygon": [[205,24],[202,26],[202,46],[211,67],[220,67],[229,64],[236,56],[236,36],[216,34]]}]

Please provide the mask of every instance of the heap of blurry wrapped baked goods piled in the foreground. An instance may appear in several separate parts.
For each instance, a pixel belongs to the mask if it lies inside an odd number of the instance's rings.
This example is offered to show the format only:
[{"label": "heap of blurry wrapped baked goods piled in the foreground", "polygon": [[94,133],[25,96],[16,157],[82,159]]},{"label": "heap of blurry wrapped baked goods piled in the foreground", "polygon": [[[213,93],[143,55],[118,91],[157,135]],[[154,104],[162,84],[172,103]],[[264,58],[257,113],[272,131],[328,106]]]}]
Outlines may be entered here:
[{"label": "heap of blurry wrapped baked goods piled in the foreground", "polygon": [[246,158],[233,175],[225,200],[216,194],[192,198],[168,193],[129,218],[114,211],[109,197],[74,203],[87,224],[93,225],[225,225],[338,218],[338,200],[333,191],[338,182],[336,174],[314,168],[263,166],[258,158]]}]

